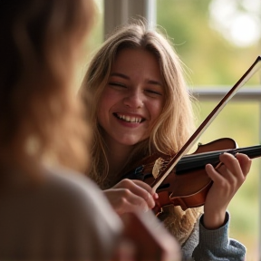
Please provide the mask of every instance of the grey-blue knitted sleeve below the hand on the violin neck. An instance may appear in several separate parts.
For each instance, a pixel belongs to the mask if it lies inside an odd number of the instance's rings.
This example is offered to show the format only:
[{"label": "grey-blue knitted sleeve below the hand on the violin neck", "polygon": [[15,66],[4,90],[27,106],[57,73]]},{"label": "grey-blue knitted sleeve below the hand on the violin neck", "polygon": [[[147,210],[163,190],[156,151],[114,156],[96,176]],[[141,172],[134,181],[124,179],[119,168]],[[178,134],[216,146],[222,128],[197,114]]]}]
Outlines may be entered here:
[{"label": "grey-blue knitted sleeve below the hand on the violin neck", "polygon": [[229,214],[226,214],[226,223],[218,229],[208,230],[199,219],[199,242],[193,251],[195,261],[240,261],[245,260],[246,247],[237,240],[228,237]]}]

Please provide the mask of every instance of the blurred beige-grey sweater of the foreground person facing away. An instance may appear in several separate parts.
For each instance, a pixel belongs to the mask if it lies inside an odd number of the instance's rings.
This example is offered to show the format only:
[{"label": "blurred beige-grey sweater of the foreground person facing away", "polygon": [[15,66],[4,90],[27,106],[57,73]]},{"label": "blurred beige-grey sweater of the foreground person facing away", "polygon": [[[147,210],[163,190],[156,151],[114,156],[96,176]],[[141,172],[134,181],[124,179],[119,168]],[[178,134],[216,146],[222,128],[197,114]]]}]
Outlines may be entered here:
[{"label": "blurred beige-grey sweater of the foreground person facing away", "polygon": [[94,183],[47,171],[42,186],[0,196],[0,260],[110,260],[121,220]]}]

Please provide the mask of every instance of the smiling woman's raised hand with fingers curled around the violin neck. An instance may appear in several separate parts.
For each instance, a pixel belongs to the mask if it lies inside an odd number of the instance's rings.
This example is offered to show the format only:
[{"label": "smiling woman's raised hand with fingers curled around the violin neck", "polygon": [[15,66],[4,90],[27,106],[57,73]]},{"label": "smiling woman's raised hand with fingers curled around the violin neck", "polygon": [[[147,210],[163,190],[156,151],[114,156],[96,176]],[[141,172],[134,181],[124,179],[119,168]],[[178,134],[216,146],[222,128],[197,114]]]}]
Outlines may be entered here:
[{"label": "smiling woman's raised hand with fingers curled around the violin neck", "polygon": [[251,160],[241,153],[237,153],[236,157],[224,153],[219,160],[222,164],[218,169],[210,164],[206,166],[208,177],[213,181],[204,206],[203,223],[208,229],[223,226],[227,207],[246,180],[251,167]]}]

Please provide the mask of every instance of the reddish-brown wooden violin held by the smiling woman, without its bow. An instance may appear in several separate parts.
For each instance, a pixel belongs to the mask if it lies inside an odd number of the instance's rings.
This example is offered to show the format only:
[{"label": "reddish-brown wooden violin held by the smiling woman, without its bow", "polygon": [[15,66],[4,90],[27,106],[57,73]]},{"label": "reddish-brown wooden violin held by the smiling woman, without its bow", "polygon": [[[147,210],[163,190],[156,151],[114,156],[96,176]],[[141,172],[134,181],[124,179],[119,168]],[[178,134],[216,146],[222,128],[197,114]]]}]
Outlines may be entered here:
[{"label": "reddish-brown wooden violin held by the smiling woman, without its bow", "polygon": [[[217,168],[220,164],[219,156],[222,153],[244,153],[250,159],[261,156],[261,145],[237,148],[237,142],[230,138],[211,141],[205,145],[199,143],[198,149],[189,155],[183,156],[161,183],[156,192],[159,198],[156,215],[167,205],[180,206],[183,210],[204,205],[212,180],[205,170],[210,163]],[[155,153],[140,162],[134,169],[123,175],[123,179],[140,179],[152,188],[161,172],[164,172],[172,157],[162,153]]]}]

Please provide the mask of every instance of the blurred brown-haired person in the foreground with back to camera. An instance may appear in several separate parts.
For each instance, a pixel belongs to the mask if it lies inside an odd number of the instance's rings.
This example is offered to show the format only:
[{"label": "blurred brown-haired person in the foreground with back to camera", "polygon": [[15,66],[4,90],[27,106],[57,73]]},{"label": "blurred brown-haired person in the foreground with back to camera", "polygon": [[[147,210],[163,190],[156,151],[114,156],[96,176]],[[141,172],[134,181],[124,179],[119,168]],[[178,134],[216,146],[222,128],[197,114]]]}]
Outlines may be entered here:
[{"label": "blurred brown-haired person in the foreground with back to camera", "polygon": [[[130,220],[121,222],[101,190],[79,174],[88,167],[92,135],[73,86],[92,0],[0,5],[0,259],[136,258],[134,245],[121,251],[121,239],[133,238]],[[150,227],[144,231],[153,238]],[[161,256],[176,258],[156,243]]]}]

